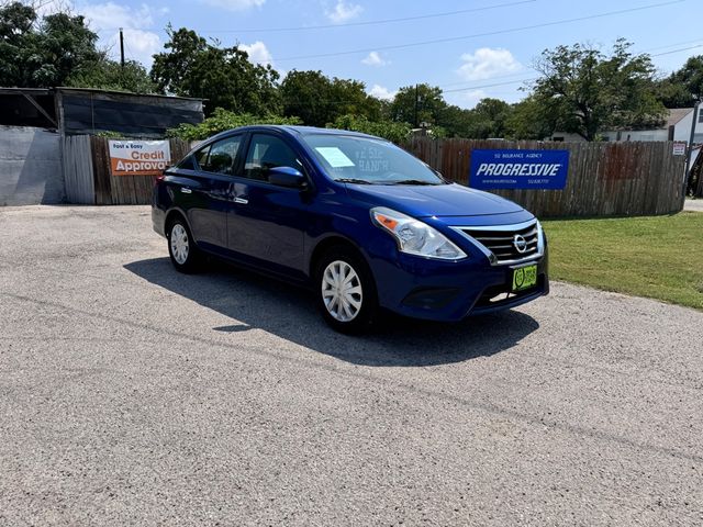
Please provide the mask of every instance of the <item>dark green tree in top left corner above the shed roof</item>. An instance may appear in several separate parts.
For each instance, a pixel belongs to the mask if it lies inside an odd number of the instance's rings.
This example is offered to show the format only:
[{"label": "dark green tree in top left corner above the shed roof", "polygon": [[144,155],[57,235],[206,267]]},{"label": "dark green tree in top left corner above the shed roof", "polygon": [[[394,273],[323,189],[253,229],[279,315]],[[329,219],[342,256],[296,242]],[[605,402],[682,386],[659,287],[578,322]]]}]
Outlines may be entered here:
[{"label": "dark green tree in top left corner above the shed roof", "polygon": [[9,3],[0,8],[0,86],[64,86],[101,60],[97,41],[82,16],[56,13],[37,24],[33,8]]}]

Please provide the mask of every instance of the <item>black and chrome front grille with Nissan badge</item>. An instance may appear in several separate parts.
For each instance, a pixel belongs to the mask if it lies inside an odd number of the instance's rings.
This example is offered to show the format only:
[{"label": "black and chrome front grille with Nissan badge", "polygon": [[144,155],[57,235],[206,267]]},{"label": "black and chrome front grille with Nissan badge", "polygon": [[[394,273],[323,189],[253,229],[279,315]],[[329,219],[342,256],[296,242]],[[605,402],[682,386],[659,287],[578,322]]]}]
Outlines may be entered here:
[{"label": "black and chrome front grille with Nissan badge", "polygon": [[[461,233],[481,244],[494,257],[496,264],[513,264],[535,256],[539,251],[537,222],[512,227],[458,227]],[[524,242],[523,242],[524,240]],[[524,244],[524,250],[518,250]]]}]

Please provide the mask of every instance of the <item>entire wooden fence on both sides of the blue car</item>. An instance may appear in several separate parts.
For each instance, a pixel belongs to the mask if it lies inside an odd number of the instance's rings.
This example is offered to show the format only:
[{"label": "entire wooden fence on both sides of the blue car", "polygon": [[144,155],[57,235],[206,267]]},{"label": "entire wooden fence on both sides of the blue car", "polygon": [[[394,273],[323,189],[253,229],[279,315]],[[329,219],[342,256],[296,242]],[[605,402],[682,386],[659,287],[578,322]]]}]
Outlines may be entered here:
[{"label": "entire wooden fence on both sides of the blue car", "polygon": [[[672,143],[540,143],[415,137],[405,149],[447,179],[468,184],[471,152],[484,149],[568,149],[569,175],[563,190],[499,190],[538,216],[670,214],[683,208],[684,156]],[[66,194],[71,203],[147,204],[153,178],[112,176],[108,139],[64,138]],[[170,139],[171,159],[190,150]]]}]

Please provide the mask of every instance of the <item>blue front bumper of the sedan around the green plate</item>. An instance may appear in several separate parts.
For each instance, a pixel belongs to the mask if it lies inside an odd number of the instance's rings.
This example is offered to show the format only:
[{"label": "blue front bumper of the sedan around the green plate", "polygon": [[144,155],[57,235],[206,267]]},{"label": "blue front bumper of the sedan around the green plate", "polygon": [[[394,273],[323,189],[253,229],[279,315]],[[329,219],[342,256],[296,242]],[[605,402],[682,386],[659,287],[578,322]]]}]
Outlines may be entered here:
[{"label": "blue front bumper of the sedan around the green plate", "polygon": [[[514,266],[491,266],[484,256],[461,261],[429,260],[398,254],[395,261],[371,265],[379,303],[398,314],[431,321],[457,322],[469,315],[507,310],[549,293],[548,249]],[[513,270],[537,265],[537,284],[511,293]]]}]

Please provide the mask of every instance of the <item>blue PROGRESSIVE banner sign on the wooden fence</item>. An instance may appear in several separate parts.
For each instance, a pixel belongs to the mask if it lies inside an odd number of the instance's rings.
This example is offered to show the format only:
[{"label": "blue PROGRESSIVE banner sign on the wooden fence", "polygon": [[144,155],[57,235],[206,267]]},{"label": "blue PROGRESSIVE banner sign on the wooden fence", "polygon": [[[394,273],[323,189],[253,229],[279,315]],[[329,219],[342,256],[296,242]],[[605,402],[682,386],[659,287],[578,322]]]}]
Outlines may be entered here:
[{"label": "blue PROGRESSIVE banner sign on the wooden fence", "polygon": [[569,150],[472,150],[469,187],[561,190],[568,171]]}]

